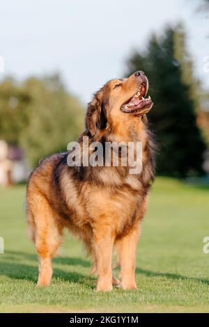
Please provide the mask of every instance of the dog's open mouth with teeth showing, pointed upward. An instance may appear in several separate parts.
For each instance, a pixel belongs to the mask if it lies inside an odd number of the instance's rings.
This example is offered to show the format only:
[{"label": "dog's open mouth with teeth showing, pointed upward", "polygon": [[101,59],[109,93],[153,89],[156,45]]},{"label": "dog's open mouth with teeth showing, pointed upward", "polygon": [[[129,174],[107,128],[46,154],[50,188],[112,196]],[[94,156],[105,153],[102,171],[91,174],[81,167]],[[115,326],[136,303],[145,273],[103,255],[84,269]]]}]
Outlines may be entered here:
[{"label": "dog's open mouth with teeth showing, pointed upward", "polygon": [[146,97],[146,84],[142,83],[139,87],[138,92],[132,97],[128,99],[122,106],[121,111],[124,113],[136,113],[141,111],[149,111],[152,106],[153,102],[150,96]]}]

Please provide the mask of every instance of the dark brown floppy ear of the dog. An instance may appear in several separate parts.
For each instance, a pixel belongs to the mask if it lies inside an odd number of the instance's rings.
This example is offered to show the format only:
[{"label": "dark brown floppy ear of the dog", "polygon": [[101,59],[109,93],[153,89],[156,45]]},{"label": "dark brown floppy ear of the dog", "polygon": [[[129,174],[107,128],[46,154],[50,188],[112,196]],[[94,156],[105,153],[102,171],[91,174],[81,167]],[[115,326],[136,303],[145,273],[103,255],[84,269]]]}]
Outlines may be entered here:
[{"label": "dark brown floppy ear of the dog", "polygon": [[98,131],[104,129],[107,125],[106,106],[98,97],[94,97],[88,104],[86,112],[86,131],[95,135]]}]

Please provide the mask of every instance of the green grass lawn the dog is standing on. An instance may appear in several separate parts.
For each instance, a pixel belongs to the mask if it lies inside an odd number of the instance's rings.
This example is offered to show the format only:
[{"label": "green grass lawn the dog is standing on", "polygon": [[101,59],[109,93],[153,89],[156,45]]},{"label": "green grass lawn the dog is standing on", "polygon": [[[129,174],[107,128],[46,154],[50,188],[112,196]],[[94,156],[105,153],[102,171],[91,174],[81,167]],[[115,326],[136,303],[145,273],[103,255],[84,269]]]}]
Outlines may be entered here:
[{"label": "green grass lawn the dog is standing on", "polygon": [[52,284],[36,289],[24,186],[0,189],[0,312],[209,312],[209,189],[157,178],[137,251],[137,291],[94,291],[90,261],[66,232]]}]

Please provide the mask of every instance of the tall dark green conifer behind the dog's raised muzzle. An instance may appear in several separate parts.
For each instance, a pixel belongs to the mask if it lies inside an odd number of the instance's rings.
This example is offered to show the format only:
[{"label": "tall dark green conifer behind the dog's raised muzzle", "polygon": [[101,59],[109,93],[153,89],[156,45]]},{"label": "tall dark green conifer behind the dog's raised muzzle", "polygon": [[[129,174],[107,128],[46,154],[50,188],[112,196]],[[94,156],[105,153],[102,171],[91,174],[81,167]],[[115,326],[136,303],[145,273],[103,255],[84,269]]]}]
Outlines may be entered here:
[{"label": "tall dark green conifer behind the dog's raised muzzle", "polygon": [[[180,64],[175,56],[180,53],[175,44],[177,32],[169,28],[159,39],[153,35],[148,49],[142,53],[136,51],[127,67],[128,74],[144,70],[150,81],[149,95],[154,107],[148,116],[161,147],[157,172],[185,177],[202,172],[206,145],[196,125],[191,81],[185,83],[183,63]],[[188,76],[191,79],[191,73]]]}]

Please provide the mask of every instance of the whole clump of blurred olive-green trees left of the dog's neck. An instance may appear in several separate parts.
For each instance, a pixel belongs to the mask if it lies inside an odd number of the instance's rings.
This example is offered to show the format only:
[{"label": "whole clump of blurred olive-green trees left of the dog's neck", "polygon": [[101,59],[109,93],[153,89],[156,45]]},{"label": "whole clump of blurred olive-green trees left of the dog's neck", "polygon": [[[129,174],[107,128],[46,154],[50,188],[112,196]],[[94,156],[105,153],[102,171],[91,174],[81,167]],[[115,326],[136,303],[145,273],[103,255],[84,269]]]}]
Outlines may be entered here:
[{"label": "whole clump of blurred olive-green trees left of the dog's neck", "polygon": [[0,85],[0,137],[20,145],[31,166],[67,149],[83,129],[84,110],[59,75]]}]

